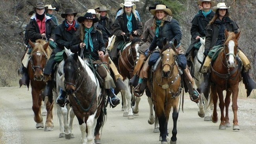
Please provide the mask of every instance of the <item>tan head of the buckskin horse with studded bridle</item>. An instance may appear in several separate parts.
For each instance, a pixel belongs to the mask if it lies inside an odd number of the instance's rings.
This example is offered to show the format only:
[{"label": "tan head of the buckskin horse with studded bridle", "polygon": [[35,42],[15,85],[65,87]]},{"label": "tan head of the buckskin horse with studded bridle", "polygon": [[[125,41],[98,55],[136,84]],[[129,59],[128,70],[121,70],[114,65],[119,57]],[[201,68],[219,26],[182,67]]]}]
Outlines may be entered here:
[{"label": "tan head of the buckskin horse with studded bridle", "polygon": [[166,39],[163,40],[163,49],[161,50],[161,57],[162,57],[162,76],[167,78],[169,74],[173,71],[173,67],[175,64],[177,41],[170,41],[167,42]]}]

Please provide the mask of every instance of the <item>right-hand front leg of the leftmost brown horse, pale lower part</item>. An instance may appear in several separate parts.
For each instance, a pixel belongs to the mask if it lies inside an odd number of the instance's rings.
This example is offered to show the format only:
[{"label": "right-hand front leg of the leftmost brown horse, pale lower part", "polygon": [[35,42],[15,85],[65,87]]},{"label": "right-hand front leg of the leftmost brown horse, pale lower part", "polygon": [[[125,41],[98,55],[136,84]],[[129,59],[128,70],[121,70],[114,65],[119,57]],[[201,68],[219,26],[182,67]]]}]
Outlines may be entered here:
[{"label": "right-hand front leg of the leftmost brown horse, pale lower part", "polygon": [[45,131],[53,131],[53,121],[52,121],[52,107],[53,103],[50,103],[48,100],[46,102],[46,121],[45,121]]}]

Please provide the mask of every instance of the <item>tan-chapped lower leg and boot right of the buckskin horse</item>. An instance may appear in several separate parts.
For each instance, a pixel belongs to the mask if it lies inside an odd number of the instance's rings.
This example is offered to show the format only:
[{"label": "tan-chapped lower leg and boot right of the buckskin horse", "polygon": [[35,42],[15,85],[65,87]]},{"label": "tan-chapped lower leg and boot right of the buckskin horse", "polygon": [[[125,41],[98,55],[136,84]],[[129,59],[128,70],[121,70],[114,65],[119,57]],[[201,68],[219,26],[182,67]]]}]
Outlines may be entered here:
[{"label": "tan-chapped lower leg and boot right of the buckskin horse", "polygon": [[199,92],[197,92],[197,90],[195,90],[193,88],[193,85],[194,85],[194,80],[189,72],[189,69],[186,68],[183,70],[184,72],[184,81],[186,83],[186,86],[187,86],[187,89],[188,89],[188,92],[189,92],[189,96],[190,96],[190,99],[195,102],[195,103],[198,103],[198,100],[200,98],[200,94]]}]

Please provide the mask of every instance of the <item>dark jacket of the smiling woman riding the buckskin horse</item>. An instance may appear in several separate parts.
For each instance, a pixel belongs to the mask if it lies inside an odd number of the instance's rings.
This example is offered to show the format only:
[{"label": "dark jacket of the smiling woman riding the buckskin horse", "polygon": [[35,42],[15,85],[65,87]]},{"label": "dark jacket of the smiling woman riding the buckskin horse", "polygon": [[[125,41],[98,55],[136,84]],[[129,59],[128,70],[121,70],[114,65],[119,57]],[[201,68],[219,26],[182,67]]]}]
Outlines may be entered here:
[{"label": "dark jacket of the smiling woman riding the buckskin horse", "polygon": [[180,42],[182,37],[182,33],[180,30],[180,26],[177,20],[167,15],[163,26],[160,27],[158,37],[154,37],[153,41],[149,46],[149,50],[152,51],[158,46],[160,50],[163,48],[163,40],[166,38],[167,41],[171,41],[172,39],[176,39],[178,43]]}]

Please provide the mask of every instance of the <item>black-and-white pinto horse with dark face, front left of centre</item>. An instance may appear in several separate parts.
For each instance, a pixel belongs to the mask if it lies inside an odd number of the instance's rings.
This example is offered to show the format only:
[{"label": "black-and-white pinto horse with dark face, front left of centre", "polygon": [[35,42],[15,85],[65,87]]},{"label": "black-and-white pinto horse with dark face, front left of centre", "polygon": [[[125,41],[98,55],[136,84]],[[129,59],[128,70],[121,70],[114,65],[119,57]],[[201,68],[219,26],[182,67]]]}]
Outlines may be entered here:
[{"label": "black-and-white pinto horse with dark face, front left of centre", "polygon": [[77,53],[67,56],[63,53],[65,88],[72,110],[78,118],[83,144],[94,144],[104,124],[106,91],[101,89],[95,71]]}]

